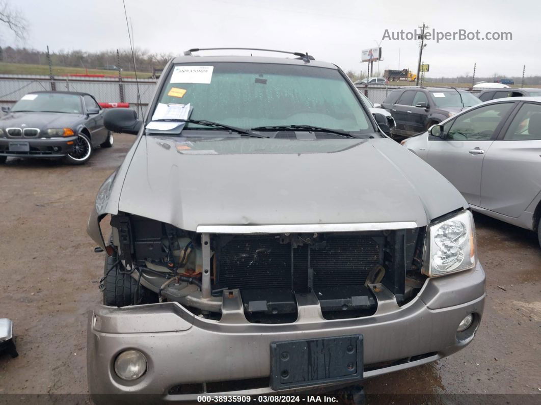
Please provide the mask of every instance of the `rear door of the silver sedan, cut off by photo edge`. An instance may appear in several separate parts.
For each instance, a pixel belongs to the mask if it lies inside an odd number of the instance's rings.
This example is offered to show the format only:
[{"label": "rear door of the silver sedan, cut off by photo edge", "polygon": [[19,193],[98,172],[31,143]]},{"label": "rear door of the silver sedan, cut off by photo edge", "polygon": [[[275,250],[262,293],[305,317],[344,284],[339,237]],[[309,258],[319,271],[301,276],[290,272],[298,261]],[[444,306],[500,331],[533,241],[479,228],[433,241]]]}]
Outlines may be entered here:
[{"label": "rear door of the silver sedan, cut off by photo edge", "polygon": [[541,190],[541,104],[521,104],[500,138],[485,154],[480,206],[518,217]]}]

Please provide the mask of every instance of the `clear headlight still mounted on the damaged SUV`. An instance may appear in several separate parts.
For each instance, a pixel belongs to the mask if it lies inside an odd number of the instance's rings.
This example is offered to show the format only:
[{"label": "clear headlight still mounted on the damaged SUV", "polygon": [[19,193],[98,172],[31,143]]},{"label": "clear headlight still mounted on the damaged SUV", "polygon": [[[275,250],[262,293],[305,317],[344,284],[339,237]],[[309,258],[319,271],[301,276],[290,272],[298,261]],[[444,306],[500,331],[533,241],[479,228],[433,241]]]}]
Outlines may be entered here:
[{"label": "clear headlight still mounted on the damaged SUV", "polygon": [[427,260],[423,274],[440,276],[476,265],[475,225],[468,210],[428,227]]}]

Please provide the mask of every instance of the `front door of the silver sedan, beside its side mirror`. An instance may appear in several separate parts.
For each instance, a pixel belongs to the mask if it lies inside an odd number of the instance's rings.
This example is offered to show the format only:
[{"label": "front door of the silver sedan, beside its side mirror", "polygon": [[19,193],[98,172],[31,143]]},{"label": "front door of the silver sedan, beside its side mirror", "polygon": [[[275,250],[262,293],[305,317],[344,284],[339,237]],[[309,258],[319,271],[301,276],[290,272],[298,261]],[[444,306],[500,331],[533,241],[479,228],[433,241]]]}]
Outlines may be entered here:
[{"label": "front door of the silver sedan, beside its side mirror", "polygon": [[[479,206],[481,170],[485,152],[509,115],[514,103],[483,105],[458,115],[444,138],[429,137],[427,162],[464,196]],[[447,127],[447,125],[446,125]]]}]

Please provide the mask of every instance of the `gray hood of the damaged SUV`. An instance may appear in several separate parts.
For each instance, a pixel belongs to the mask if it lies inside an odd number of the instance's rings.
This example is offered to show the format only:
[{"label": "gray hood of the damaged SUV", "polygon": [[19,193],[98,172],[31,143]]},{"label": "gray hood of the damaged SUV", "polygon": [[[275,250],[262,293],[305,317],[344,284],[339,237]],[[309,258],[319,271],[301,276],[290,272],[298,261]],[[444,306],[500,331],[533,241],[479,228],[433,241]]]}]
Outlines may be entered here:
[{"label": "gray hood of the damaged SUV", "polygon": [[443,176],[388,138],[146,135],[116,201],[120,211],[193,231],[226,224],[414,221],[421,227],[467,207]]}]

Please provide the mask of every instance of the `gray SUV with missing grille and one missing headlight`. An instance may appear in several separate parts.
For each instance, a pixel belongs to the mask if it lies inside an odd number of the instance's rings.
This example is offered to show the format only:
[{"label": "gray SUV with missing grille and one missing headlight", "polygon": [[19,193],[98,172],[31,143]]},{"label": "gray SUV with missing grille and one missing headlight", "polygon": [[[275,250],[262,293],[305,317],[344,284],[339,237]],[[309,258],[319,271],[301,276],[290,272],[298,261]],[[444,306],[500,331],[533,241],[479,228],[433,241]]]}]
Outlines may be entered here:
[{"label": "gray SUV with missing grille and one missing headlight", "polygon": [[88,222],[107,253],[94,401],[298,395],[469,344],[485,274],[460,193],[334,64],[194,51],[142,121],[105,115],[137,138]]}]

